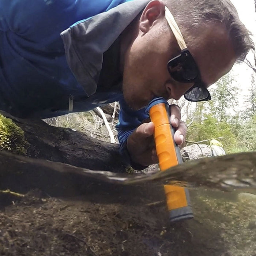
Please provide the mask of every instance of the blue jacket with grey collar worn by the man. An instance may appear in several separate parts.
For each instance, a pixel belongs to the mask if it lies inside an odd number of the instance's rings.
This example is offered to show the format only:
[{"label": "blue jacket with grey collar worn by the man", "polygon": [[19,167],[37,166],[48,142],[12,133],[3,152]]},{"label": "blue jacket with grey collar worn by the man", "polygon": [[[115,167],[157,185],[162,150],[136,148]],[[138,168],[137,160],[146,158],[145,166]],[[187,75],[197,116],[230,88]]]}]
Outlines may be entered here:
[{"label": "blue jacket with grey collar worn by the man", "polygon": [[129,109],[121,91],[97,92],[97,81],[102,54],[148,1],[1,0],[0,109],[47,118],[70,113],[70,95],[72,112],[119,101],[124,152],[128,136],[148,115]]}]

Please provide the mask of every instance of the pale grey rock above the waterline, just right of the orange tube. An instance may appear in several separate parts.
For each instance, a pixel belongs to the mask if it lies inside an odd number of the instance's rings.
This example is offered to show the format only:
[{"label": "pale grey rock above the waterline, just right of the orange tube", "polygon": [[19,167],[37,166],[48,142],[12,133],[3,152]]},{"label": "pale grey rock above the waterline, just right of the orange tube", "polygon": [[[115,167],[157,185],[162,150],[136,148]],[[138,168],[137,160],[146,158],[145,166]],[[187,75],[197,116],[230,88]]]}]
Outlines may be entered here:
[{"label": "pale grey rock above the waterline, just right of the orange tube", "polygon": [[192,144],[181,149],[181,156],[183,161],[186,162],[191,159],[212,157],[212,151],[210,146],[206,144]]}]

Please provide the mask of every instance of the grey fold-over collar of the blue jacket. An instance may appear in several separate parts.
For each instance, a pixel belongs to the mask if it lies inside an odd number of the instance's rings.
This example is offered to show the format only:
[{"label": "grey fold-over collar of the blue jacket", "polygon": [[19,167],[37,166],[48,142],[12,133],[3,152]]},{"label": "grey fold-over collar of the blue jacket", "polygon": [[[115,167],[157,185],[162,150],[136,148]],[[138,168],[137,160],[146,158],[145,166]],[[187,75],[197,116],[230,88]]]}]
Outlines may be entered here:
[{"label": "grey fold-over collar of the blue jacket", "polygon": [[67,63],[87,96],[97,89],[103,53],[150,0],[134,0],[93,16],[61,33]]}]

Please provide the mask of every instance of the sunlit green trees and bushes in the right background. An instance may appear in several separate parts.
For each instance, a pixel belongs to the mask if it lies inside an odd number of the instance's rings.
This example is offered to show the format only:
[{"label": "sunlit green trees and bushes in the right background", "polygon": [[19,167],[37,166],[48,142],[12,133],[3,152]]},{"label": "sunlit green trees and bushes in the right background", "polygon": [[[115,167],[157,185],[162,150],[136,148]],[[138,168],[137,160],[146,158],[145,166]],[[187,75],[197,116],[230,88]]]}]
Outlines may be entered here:
[{"label": "sunlit green trees and bushes in the right background", "polygon": [[[248,97],[246,112],[237,110],[238,88],[230,74],[223,76],[211,90],[212,101],[198,102],[189,113],[187,140],[198,142],[211,138],[219,139],[226,153],[256,151],[256,87]],[[208,142],[203,142],[208,144]]]}]

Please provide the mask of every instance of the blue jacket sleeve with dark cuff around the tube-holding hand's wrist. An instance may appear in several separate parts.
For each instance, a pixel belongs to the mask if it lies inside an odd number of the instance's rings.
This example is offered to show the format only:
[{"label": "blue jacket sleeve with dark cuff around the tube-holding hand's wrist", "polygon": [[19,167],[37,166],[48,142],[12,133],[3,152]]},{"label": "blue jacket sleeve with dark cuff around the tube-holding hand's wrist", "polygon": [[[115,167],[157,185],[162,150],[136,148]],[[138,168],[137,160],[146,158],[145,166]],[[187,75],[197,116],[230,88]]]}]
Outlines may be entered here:
[{"label": "blue jacket sleeve with dark cuff around the tube-holding hand's wrist", "polygon": [[127,147],[126,142],[131,135],[131,133],[140,125],[140,123],[149,117],[146,113],[146,109],[141,109],[138,111],[132,110],[129,106],[125,103],[124,98],[122,97],[119,100],[120,104],[120,113],[119,113],[119,123],[116,125],[116,129],[118,131],[118,141],[119,141],[119,151],[120,154],[123,155],[125,161],[129,163],[133,169],[136,170],[143,170],[147,166],[139,165],[132,161]]}]

